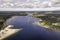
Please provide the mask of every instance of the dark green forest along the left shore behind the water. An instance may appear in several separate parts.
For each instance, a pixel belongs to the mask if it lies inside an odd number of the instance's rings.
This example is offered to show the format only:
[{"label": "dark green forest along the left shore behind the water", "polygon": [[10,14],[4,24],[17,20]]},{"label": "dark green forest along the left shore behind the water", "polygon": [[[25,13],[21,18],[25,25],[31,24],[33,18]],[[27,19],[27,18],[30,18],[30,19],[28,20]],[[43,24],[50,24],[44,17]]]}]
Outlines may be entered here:
[{"label": "dark green forest along the left shore behind the water", "polygon": [[12,16],[27,16],[27,13],[0,14],[0,30],[6,27],[5,21]]}]

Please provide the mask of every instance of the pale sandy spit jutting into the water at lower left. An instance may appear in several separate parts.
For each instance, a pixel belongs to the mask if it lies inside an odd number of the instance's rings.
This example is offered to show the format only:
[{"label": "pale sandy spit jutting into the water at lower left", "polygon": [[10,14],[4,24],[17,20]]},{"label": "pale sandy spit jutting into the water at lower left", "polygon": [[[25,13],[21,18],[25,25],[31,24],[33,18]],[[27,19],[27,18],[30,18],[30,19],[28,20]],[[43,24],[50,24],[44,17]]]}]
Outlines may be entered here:
[{"label": "pale sandy spit jutting into the water at lower left", "polygon": [[0,40],[3,40],[21,30],[22,29],[9,29],[9,27],[4,30],[1,30],[0,31]]}]

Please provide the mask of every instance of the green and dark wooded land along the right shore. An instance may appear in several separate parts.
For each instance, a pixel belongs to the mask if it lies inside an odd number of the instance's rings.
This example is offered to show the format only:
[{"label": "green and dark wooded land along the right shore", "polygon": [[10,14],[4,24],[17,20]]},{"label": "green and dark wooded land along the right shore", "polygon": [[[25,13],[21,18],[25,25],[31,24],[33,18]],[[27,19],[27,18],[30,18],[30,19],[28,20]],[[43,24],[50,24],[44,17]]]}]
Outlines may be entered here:
[{"label": "green and dark wooded land along the right shore", "polygon": [[[60,30],[60,14],[45,14],[45,16],[38,16],[40,14],[33,15],[33,17],[40,18],[40,25],[43,25],[45,28]],[[57,23],[56,25],[53,23]]]}]

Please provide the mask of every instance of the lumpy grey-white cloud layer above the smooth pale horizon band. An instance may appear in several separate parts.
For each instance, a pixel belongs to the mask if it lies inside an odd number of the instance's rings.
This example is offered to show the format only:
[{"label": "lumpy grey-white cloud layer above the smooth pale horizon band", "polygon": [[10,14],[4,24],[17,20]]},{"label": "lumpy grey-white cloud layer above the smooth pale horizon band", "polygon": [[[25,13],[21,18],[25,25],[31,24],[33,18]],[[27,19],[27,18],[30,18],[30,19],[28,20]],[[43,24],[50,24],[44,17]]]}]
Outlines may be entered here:
[{"label": "lumpy grey-white cloud layer above the smooth pale horizon band", "polygon": [[[29,6],[30,5],[30,6]],[[0,0],[0,8],[60,7],[60,0]]]}]

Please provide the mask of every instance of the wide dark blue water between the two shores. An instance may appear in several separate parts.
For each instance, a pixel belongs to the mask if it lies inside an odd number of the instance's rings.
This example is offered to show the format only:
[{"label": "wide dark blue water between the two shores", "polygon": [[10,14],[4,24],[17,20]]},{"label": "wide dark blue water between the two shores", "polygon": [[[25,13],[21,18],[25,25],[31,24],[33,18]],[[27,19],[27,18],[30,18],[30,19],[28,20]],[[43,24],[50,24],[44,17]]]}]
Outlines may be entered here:
[{"label": "wide dark blue water between the two shores", "polygon": [[23,30],[5,40],[60,40],[59,32],[34,24],[39,20],[29,16],[13,16],[6,21],[6,24],[14,25],[14,29],[22,28]]}]

